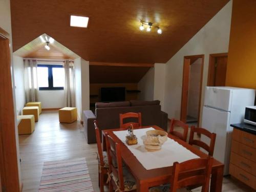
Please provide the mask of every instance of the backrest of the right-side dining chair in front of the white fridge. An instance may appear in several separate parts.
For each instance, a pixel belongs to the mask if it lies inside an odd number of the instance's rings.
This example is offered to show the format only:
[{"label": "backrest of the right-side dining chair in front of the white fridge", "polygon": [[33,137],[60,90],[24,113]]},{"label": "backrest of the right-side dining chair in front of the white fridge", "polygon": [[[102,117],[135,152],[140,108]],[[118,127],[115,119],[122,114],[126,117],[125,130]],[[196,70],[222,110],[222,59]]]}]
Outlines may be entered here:
[{"label": "backrest of the right-side dining chair in front of the white fridge", "polygon": [[[208,145],[203,141],[194,139],[194,133],[199,133],[201,135],[205,135],[206,137],[208,137],[210,139],[210,144]],[[216,139],[215,133],[210,133],[209,131],[201,127],[195,127],[195,126],[190,127],[190,136],[189,136],[188,143],[190,145],[197,145],[204,148],[204,150],[208,152],[209,156],[214,155],[215,139]]]}]

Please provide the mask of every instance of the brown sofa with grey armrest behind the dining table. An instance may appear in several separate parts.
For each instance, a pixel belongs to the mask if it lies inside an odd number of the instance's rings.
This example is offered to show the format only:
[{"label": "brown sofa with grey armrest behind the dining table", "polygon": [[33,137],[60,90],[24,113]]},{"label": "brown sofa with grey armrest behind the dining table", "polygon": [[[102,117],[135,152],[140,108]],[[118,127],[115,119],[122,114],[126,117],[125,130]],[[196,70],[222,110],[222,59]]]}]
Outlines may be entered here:
[{"label": "brown sofa with grey armrest behind the dining table", "polygon": [[158,100],[98,102],[95,104],[95,115],[90,110],[83,111],[84,135],[87,142],[96,143],[94,120],[98,121],[100,130],[115,129],[120,127],[119,114],[127,112],[140,112],[143,126],[158,125],[167,131],[168,115],[161,111],[160,101]]}]

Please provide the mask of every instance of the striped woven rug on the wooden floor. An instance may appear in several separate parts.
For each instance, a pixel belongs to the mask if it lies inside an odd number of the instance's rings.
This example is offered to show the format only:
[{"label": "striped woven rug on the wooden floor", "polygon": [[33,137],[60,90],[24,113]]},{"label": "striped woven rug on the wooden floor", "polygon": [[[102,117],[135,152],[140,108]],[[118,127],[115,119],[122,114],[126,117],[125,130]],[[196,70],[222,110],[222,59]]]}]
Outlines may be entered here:
[{"label": "striped woven rug on the wooden floor", "polygon": [[39,192],[93,192],[86,158],[45,162]]}]

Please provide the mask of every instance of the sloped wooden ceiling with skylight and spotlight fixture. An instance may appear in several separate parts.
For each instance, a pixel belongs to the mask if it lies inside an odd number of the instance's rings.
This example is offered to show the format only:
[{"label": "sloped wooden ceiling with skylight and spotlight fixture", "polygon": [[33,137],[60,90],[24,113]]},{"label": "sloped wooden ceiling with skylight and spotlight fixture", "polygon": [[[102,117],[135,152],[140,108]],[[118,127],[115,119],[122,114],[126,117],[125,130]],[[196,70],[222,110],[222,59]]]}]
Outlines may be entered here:
[{"label": "sloped wooden ceiling with skylight and spotlight fixture", "polygon": [[[11,1],[13,50],[43,33],[89,61],[165,63],[229,0]],[[70,27],[70,15],[88,28]],[[139,20],[162,29],[140,31]]]}]

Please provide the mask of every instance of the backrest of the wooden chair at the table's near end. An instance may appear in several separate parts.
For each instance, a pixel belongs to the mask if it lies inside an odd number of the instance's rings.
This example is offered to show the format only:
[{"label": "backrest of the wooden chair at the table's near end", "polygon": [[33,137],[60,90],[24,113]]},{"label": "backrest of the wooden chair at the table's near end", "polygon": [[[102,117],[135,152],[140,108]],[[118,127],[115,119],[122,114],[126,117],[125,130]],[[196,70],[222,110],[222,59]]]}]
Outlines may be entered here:
[{"label": "backrest of the wooden chair at the table's near end", "polygon": [[[191,159],[183,163],[175,162],[173,165],[170,192],[191,185],[202,185],[201,191],[208,192],[212,161],[213,158],[208,157],[206,159]],[[196,171],[197,169],[204,169],[204,171]],[[189,173],[183,174],[180,178],[179,176],[182,172]]]}]

